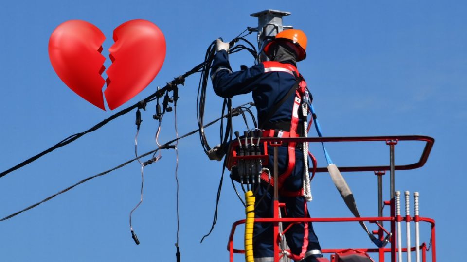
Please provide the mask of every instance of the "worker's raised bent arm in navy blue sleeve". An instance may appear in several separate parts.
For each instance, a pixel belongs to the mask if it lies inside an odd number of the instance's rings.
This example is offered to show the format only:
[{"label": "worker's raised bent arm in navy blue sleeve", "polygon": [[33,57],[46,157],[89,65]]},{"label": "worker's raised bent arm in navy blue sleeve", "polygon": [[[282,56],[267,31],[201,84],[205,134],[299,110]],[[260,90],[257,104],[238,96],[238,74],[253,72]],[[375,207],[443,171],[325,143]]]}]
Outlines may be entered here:
[{"label": "worker's raised bent arm in navy blue sleeve", "polygon": [[261,78],[263,73],[263,64],[255,65],[242,71],[232,72],[227,51],[221,49],[216,53],[211,67],[214,92],[223,98],[247,94],[257,86],[256,82]]}]

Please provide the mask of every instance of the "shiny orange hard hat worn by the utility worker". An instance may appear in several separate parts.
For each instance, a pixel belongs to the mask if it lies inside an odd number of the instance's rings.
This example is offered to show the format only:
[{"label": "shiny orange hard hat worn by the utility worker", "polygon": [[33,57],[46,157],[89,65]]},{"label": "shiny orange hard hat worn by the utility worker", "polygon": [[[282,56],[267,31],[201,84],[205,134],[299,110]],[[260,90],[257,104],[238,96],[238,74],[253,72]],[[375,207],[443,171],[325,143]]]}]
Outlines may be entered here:
[{"label": "shiny orange hard hat worn by the utility worker", "polygon": [[302,61],[306,57],[306,35],[299,29],[287,29],[279,32],[274,39],[272,39],[264,47],[264,52],[269,54],[278,41],[294,44],[292,47],[297,51],[297,61]]}]

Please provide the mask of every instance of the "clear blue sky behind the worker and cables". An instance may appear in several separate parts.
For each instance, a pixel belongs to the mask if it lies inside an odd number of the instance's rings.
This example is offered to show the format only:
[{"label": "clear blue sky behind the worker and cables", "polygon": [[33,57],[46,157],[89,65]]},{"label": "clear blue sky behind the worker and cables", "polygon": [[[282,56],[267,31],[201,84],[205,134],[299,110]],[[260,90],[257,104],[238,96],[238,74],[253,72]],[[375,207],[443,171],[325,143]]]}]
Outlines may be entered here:
[{"label": "clear blue sky behind the worker and cables", "polygon": [[[217,37],[232,39],[256,26],[251,13],[278,9],[284,24],[308,35],[308,56],[299,64],[307,79],[325,136],[424,134],[436,139],[428,163],[396,173],[396,189],[420,192],[422,216],[437,221],[438,259],[454,260],[452,243],[467,233],[463,175],[467,128],[467,4],[463,1],[1,1],[0,2],[0,170],[84,131],[113,112],[75,95],[54,72],[48,40],[54,28],[82,19],[107,36],[125,21],[141,18],[165,34],[167,56],[161,72],[123,107],[152,94],[204,59]],[[254,41],[254,37],[250,36]],[[234,68],[251,57],[231,56]],[[107,59],[106,67],[110,66]],[[179,132],[196,129],[198,75],[180,88]],[[206,119],[220,115],[221,100],[208,93]],[[234,98],[234,105],[250,101]],[[154,104],[143,112],[139,152],[153,149]],[[134,156],[134,113],[114,120],[0,179],[0,216],[6,216],[92,174]],[[164,117],[160,141],[175,137],[173,113]],[[240,129],[240,122],[236,125]],[[243,129],[241,129],[243,130]],[[218,126],[209,128],[218,143]],[[315,135],[314,132],[311,132]],[[387,164],[388,149],[329,145],[337,165]],[[182,261],[227,261],[232,223],[244,217],[230,180],[224,181],[219,218],[210,228],[221,163],[204,155],[197,135],[180,141],[180,248]],[[320,166],[322,151],[313,147]],[[418,158],[419,144],[396,146],[396,163]],[[39,207],[0,223],[1,261],[175,261],[175,153],[145,169],[143,205],[131,239],[128,213],[139,200],[139,164],[91,180]],[[376,216],[373,173],[344,174],[362,215]],[[385,177],[385,184],[389,176]],[[312,216],[351,216],[326,174],[312,182]],[[387,198],[389,189],[385,191]],[[413,212],[413,211],[412,211]],[[315,224],[323,248],[372,247],[358,225]],[[429,242],[428,227],[421,240]],[[413,229],[412,229],[413,230]],[[242,240],[237,238],[237,246]],[[242,257],[237,257],[239,261]]]}]

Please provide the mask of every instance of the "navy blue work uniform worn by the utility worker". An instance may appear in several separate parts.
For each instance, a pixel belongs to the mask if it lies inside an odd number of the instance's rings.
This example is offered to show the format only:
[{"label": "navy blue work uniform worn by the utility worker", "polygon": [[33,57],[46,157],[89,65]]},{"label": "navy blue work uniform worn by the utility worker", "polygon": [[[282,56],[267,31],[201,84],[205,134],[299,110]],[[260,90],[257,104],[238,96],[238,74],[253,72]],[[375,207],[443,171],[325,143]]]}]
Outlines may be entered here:
[{"label": "navy blue work uniform worn by the utility worker", "polygon": [[[223,98],[232,98],[235,95],[252,93],[253,101],[258,111],[259,126],[265,120],[266,126],[274,123],[290,123],[292,117],[292,108],[294,96],[290,96],[268,119],[264,119],[275,104],[284,98],[288,91],[296,83],[296,77],[291,72],[269,71],[260,63],[245,70],[232,72],[229,64],[228,54],[221,50],[216,53],[211,70],[211,78],[215,93]],[[288,130],[286,130],[288,131]],[[272,148],[269,149],[272,152]],[[279,147],[278,174],[284,173],[288,164],[287,147]],[[283,188],[286,191],[297,191],[302,188],[303,178],[303,152],[296,149],[295,167],[290,176],[284,181]],[[269,165],[267,168],[273,172],[273,156],[269,156]],[[273,216],[273,193],[272,187],[267,190],[267,185],[262,184],[256,199],[265,195],[255,209],[255,218],[267,218]],[[280,202],[286,203],[286,209],[282,210],[282,217],[309,217],[304,197],[284,197],[280,196]],[[284,228],[287,225],[284,223]],[[305,232],[305,227],[308,232]],[[304,238],[305,235],[305,238]],[[307,237],[306,237],[307,236]],[[295,224],[286,232],[287,243],[292,253],[298,255],[302,252],[302,246],[307,248],[304,261],[316,261],[315,257],[322,257],[321,247],[318,238],[313,231],[311,223]],[[253,254],[255,262],[273,262],[273,226],[272,223],[254,223],[253,229]],[[304,245],[305,239],[305,245]]]}]

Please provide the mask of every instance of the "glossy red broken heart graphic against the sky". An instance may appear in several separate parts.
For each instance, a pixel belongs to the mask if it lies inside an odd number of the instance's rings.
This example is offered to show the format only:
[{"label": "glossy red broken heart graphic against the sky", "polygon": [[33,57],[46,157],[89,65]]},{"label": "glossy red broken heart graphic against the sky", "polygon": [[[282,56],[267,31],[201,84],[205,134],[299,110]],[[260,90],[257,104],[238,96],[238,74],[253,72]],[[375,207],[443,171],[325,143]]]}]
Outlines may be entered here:
[{"label": "glossy red broken heart graphic against the sky", "polygon": [[[58,77],[77,95],[105,110],[101,74],[105,57],[100,54],[104,34],[82,20],[59,25],[49,40],[49,58]],[[159,73],[165,58],[161,30],[146,20],[131,20],[113,32],[112,65],[104,92],[113,110],[140,93]]]}]

